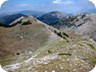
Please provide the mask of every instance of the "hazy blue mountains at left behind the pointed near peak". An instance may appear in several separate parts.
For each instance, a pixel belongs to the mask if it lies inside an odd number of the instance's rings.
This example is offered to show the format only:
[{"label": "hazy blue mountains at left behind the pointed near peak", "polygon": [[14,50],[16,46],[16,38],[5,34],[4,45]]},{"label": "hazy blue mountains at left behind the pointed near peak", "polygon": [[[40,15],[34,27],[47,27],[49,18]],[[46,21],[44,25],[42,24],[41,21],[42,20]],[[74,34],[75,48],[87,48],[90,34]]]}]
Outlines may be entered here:
[{"label": "hazy blue mountains at left behind the pointed near peak", "polygon": [[30,11],[30,10],[24,10],[24,11],[20,11],[20,12],[1,13],[0,14],[0,23],[8,25],[21,16],[24,16],[24,17],[25,16],[34,16],[37,18],[37,17],[42,16],[43,14],[45,14],[45,13],[41,12],[41,11]]}]

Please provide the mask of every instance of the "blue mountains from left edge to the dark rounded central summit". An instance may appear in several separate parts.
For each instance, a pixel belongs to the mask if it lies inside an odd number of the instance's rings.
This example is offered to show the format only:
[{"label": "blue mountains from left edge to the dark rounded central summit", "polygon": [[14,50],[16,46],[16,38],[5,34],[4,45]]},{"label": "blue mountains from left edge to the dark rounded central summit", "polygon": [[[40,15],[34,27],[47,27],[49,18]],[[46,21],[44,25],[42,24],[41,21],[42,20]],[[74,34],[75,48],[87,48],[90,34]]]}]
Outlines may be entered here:
[{"label": "blue mountains from left edge to the dark rounded central summit", "polygon": [[40,21],[43,21],[43,22],[51,25],[62,18],[66,18],[67,14],[65,14],[63,12],[58,12],[58,11],[53,11],[53,12],[49,12],[49,13],[45,14],[40,11],[25,10],[25,11],[21,11],[21,12],[15,13],[15,14],[14,13],[4,14],[0,18],[0,23],[10,24],[12,21],[14,21],[15,19],[17,19],[21,16],[34,16],[34,17],[38,18]]}]

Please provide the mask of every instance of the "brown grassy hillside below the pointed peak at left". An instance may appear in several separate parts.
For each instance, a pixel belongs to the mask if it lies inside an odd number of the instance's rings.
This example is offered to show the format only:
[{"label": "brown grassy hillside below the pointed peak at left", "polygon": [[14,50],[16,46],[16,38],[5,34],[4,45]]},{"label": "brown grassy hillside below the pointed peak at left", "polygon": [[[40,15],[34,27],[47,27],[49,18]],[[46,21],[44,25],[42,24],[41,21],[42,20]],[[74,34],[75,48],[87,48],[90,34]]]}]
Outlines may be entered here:
[{"label": "brown grassy hillside below the pointed peak at left", "polygon": [[[30,21],[31,24],[22,25],[26,21]],[[18,20],[13,22],[15,23],[18,23]],[[14,61],[21,62],[30,57],[24,57],[23,54],[28,55],[27,52],[34,52],[39,47],[58,39],[60,37],[51,32],[45,24],[32,17],[24,18],[21,24],[12,27],[0,27],[0,62],[2,65]]]}]

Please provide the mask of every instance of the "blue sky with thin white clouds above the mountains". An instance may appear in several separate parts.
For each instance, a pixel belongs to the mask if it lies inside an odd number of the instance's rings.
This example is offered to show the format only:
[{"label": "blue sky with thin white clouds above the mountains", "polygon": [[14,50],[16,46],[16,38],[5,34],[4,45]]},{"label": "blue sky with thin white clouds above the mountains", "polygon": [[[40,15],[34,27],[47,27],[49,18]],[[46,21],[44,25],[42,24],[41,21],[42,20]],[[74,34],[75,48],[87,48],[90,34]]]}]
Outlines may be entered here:
[{"label": "blue sky with thin white clouds above the mountains", "polygon": [[8,0],[1,6],[0,12],[63,11],[65,13],[94,12],[95,6],[88,0]]}]

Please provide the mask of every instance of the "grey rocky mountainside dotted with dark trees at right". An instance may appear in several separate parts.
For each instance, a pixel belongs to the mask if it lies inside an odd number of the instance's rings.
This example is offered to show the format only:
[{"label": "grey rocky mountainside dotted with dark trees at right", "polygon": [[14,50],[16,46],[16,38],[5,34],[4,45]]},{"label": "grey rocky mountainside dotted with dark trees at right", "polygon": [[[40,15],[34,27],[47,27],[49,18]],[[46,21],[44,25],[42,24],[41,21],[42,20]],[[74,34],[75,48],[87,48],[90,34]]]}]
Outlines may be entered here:
[{"label": "grey rocky mountainside dotted with dark trees at right", "polygon": [[96,39],[96,14],[79,14],[61,19],[53,26],[60,30],[67,30],[80,35],[88,35]]}]

